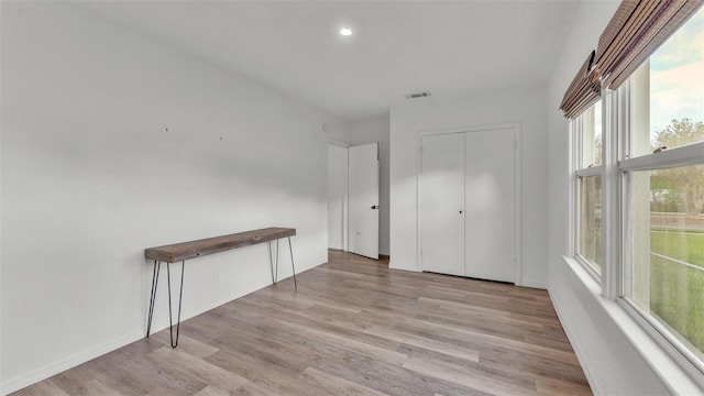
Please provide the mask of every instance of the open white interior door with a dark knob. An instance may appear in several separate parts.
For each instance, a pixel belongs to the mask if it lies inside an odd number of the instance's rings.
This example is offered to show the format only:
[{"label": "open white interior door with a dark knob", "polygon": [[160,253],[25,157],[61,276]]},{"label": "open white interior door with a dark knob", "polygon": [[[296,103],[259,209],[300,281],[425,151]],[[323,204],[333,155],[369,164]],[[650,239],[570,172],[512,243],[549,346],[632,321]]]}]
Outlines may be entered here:
[{"label": "open white interior door with a dark knob", "polygon": [[378,258],[378,143],[348,150],[349,250]]}]

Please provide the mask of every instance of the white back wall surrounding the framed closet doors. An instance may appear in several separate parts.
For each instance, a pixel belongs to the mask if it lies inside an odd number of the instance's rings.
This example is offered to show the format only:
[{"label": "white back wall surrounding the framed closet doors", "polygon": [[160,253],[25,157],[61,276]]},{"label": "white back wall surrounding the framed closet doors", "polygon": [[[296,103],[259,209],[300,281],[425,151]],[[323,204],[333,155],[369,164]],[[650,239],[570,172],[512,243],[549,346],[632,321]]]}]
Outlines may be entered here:
[{"label": "white back wall surrounding the framed closet doors", "polygon": [[391,112],[391,267],[418,271],[418,133],[507,122],[521,128],[522,279],[546,287],[547,195],[546,92],[543,88],[497,89],[458,98],[418,99]]}]

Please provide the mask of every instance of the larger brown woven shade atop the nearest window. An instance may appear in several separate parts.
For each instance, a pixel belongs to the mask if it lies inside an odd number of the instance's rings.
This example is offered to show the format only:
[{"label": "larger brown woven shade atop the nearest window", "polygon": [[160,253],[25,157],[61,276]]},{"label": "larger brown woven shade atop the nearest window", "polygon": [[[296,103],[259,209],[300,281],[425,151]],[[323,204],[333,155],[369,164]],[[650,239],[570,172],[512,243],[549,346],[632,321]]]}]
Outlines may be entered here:
[{"label": "larger brown woven shade atop the nearest window", "polygon": [[704,0],[625,0],[598,41],[594,73],[618,88],[704,3]]}]

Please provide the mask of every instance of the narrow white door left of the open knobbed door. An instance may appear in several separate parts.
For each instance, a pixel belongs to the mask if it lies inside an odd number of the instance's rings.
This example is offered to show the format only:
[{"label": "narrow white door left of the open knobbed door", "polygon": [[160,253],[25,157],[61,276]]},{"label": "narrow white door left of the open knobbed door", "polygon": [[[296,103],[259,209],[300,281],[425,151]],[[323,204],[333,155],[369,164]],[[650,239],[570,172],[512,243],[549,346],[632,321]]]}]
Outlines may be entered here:
[{"label": "narrow white door left of the open knobbed door", "polygon": [[348,148],[328,145],[328,248],[346,250]]}]

